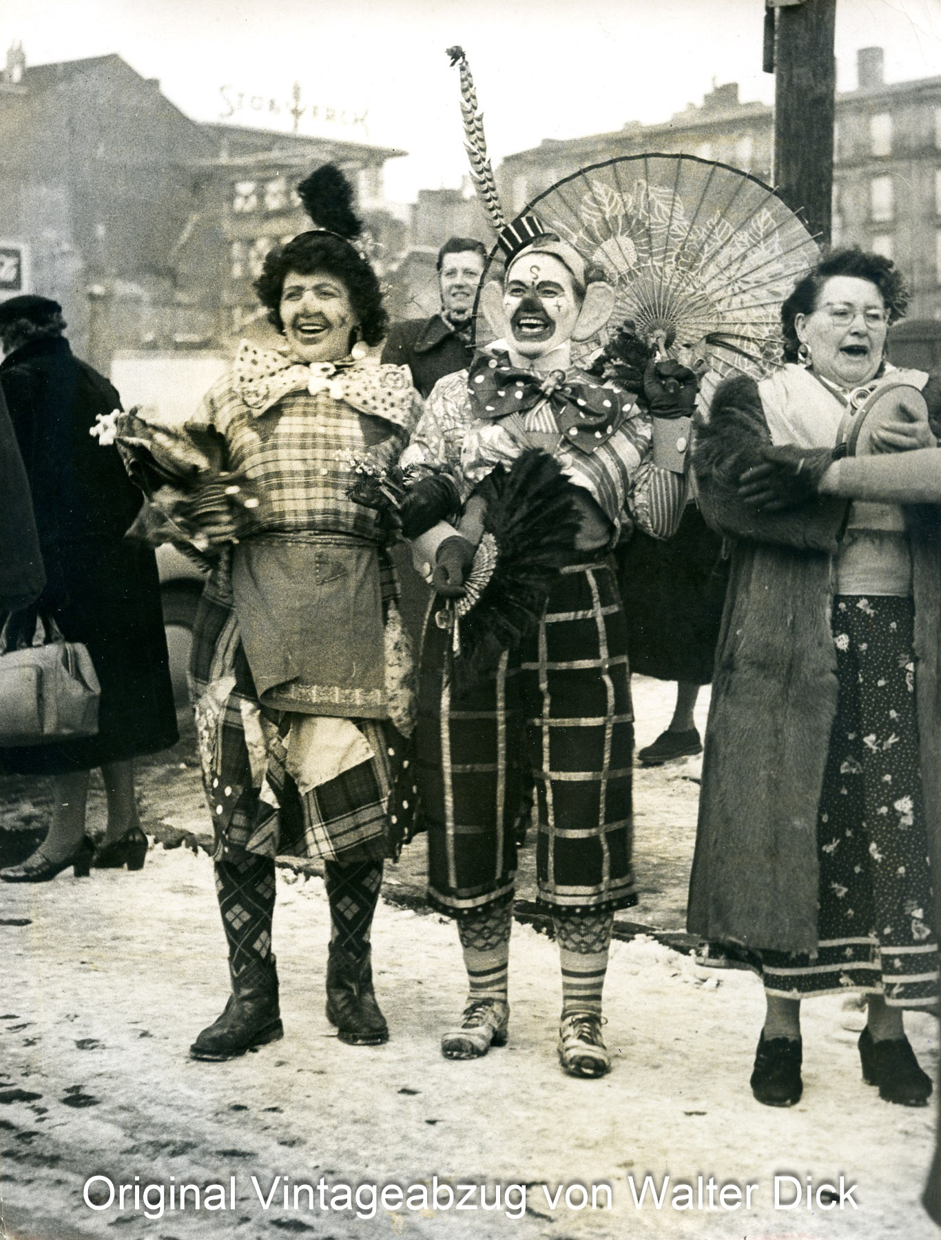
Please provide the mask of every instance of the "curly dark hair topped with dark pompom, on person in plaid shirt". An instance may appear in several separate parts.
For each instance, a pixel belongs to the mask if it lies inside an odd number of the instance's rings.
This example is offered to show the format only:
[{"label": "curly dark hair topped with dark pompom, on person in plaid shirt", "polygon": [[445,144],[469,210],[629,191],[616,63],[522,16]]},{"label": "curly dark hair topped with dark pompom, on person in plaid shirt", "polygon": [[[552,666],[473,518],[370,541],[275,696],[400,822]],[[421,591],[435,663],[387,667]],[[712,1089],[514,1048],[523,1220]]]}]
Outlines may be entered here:
[{"label": "curly dark hair topped with dark pompom, on person in plaid shirt", "polygon": [[286,246],[275,246],[265,255],[254,289],[258,300],[268,308],[268,321],[276,331],[284,330],[281,289],[289,272],[298,275],[324,272],[346,289],[366,343],[378,345],[386,335],[388,315],[376,272],[347,239],[362,232],[350,182],[334,164],[324,164],[300,182],[298,193],[307,215],[320,227],[316,232],[300,233]]}]

